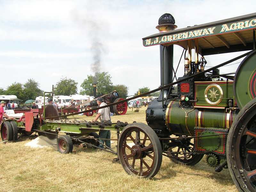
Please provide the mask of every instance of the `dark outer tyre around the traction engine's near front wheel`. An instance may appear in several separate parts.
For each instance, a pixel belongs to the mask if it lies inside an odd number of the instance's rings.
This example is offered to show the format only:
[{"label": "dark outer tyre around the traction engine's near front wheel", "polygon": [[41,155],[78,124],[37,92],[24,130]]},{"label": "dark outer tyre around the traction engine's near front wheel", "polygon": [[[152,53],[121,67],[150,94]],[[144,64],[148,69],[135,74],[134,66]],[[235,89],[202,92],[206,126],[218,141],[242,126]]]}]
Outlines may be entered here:
[{"label": "dark outer tyre around the traction engine's near front wheel", "polygon": [[136,174],[132,173],[131,171],[129,171],[129,169],[124,165],[125,164],[124,158],[120,152],[121,150],[119,150],[120,148],[122,148],[122,138],[125,137],[126,130],[129,130],[130,127],[139,127],[141,130],[143,130],[148,135],[148,137],[150,137],[153,147],[156,148],[156,157],[155,157],[156,163],[154,164],[152,171],[147,176],[144,176],[145,178],[152,178],[157,174],[157,172],[159,171],[161,164],[162,164],[162,158],[163,158],[162,147],[161,147],[160,140],[159,140],[158,136],[156,135],[156,132],[154,132],[154,130],[151,127],[149,127],[148,125],[146,125],[144,123],[129,124],[121,132],[119,140],[118,140],[118,145],[117,145],[118,146],[117,152],[118,152],[118,157],[120,159],[120,163],[121,163],[122,167],[124,168],[124,171],[127,172],[128,174],[132,174],[137,177],[142,177],[140,175],[136,175]]}]

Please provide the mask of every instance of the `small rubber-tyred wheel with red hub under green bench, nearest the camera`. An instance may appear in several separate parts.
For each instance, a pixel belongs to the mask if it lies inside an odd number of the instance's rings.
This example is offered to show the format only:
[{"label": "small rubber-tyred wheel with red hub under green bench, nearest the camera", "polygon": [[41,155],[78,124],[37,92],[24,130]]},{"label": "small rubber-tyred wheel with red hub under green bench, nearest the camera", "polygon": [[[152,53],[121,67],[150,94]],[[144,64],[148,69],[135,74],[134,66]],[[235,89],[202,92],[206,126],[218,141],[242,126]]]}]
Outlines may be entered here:
[{"label": "small rubber-tyred wheel with red hub under green bench, nearest the camera", "polygon": [[73,150],[73,142],[69,135],[61,135],[57,140],[57,147],[60,153],[70,153]]}]

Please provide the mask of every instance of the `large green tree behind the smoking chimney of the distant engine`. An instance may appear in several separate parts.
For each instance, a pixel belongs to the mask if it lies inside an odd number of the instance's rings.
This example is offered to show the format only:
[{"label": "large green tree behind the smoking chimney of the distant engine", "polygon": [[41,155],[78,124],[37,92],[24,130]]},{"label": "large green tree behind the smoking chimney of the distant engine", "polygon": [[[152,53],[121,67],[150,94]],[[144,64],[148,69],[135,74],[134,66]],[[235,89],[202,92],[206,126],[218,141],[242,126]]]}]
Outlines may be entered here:
[{"label": "large green tree behind the smoking chimney of the distant engine", "polygon": [[97,94],[107,94],[113,91],[113,83],[111,81],[111,76],[108,72],[95,73],[95,76],[87,75],[87,79],[81,84],[83,88],[80,91],[82,95],[93,95],[92,84],[97,83]]}]

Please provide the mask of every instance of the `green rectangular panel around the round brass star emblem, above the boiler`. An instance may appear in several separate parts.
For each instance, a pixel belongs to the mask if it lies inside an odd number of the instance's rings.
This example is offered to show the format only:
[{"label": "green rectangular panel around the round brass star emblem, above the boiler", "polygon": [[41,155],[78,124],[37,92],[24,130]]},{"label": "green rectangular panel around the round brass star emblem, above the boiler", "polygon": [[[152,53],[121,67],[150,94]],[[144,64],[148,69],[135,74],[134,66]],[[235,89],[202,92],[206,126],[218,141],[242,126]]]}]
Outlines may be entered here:
[{"label": "green rectangular panel around the round brass star emblem, above the boiler", "polygon": [[[204,91],[206,89],[206,87],[208,85],[211,84],[217,84],[220,86],[220,88],[223,91],[223,97],[222,100],[219,104],[217,105],[211,105],[209,103],[206,102],[205,100],[205,95],[204,95]],[[217,90],[216,90],[217,91]],[[234,92],[233,92],[233,81],[212,81],[212,82],[200,82],[200,83],[195,83],[195,100],[197,100],[195,102],[195,107],[219,107],[219,108],[223,108],[223,107],[228,107],[228,100],[234,100]],[[212,101],[212,99],[210,98],[211,96],[209,95],[210,92],[207,92],[207,96],[208,99]],[[220,94],[219,91],[217,91],[216,93]],[[219,98],[217,96],[217,98]],[[214,102],[216,101],[216,99],[213,100]]]}]

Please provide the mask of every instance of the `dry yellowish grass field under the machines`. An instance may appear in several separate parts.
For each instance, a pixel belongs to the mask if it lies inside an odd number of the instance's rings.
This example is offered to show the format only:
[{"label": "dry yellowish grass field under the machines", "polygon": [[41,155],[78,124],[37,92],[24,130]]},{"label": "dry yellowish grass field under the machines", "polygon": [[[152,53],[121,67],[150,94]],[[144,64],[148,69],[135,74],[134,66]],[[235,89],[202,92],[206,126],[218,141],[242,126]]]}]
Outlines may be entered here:
[{"label": "dry yellowish grass field under the machines", "polygon": [[[146,123],[145,109],[139,113],[128,109],[124,116],[113,116],[112,122]],[[111,134],[116,138],[115,132]],[[127,175],[121,164],[112,163],[116,156],[111,153],[76,148],[75,153],[60,154],[53,148],[25,147],[27,142],[29,139],[0,143],[0,191],[237,191],[228,170],[215,172],[205,158],[195,166],[184,166],[163,156],[158,174],[140,179]]]}]

